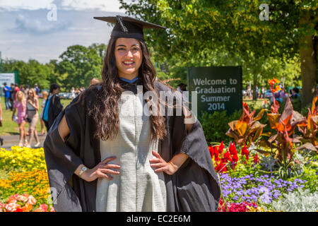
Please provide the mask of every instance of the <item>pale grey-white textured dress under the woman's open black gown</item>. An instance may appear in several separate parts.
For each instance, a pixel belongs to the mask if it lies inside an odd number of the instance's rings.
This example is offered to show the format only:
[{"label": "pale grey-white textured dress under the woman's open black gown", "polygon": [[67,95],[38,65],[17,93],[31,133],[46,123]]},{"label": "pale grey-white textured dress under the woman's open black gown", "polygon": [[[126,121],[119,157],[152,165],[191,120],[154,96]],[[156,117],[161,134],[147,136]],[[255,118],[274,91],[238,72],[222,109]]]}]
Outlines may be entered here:
[{"label": "pale grey-white textured dress under the woman's open black gown", "polygon": [[[110,163],[121,166],[113,179],[98,179],[96,211],[166,211],[163,172],[150,166],[151,150],[158,152],[158,140],[150,140],[150,120],[143,115],[139,95],[124,92],[119,100],[119,133],[114,140],[100,141],[101,160],[116,155]],[[116,170],[116,169],[115,169]]]}]

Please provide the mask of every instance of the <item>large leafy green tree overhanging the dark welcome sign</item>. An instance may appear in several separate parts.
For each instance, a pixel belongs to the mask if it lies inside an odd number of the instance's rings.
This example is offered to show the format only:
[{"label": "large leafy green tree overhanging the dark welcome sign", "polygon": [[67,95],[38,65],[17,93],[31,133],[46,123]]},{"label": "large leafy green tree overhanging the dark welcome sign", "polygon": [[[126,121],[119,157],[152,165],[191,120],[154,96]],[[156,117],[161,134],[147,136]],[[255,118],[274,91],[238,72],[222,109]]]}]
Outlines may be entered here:
[{"label": "large leafy green tree overhanging the dark welcome sign", "polygon": [[[298,57],[303,105],[314,97],[318,1],[119,1],[126,13],[168,28],[146,31],[147,41],[162,60],[175,56],[188,62],[194,56],[225,54],[249,69],[255,90],[264,62],[278,60],[276,66],[284,69],[282,63]],[[269,20],[260,19],[266,16],[259,9],[264,3],[269,6]]]}]

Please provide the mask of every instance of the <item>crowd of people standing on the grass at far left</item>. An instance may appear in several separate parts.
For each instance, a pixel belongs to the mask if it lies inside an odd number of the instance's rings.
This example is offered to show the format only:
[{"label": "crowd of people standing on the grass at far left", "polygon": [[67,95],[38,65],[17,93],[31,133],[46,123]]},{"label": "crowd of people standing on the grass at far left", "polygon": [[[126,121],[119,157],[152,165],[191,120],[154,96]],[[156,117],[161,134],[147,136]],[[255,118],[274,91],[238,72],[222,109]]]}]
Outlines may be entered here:
[{"label": "crowd of people standing on the grass at far left", "polygon": [[[45,135],[45,127],[49,131],[49,126],[53,124],[54,117],[57,117],[63,106],[57,96],[59,94],[59,85],[52,84],[49,93],[42,91],[42,102],[39,101],[40,88],[37,84],[34,88],[29,85],[18,85],[11,83],[9,87],[4,83],[4,101],[6,110],[12,111],[11,119],[19,126],[20,138],[18,145],[31,148],[35,139],[35,148],[40,146],[39,136],[37,134],[37,121],[40,119],[41,134]],[[52,98],[53,97],[53,98]],[[41,105],[41,112],[39,114]],[[0,112],[2,121],[2,112]],[[25,125],[29,124],[29,130],[25,131]],[[29,136],[29,139],[27,139]],[[3,140],[1,140],[1,145]]]}]

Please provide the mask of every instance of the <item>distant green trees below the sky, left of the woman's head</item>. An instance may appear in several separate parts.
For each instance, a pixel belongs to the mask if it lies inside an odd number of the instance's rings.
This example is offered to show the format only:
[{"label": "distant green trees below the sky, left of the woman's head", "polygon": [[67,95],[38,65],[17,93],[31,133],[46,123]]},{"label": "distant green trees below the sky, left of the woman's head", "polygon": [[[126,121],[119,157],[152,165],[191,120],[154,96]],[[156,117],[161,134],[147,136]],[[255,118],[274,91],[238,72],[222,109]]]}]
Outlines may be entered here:
[{"label": "distant green trees below the sky, left of the woman's head", "polygon": [[48,89],[52,83],[61,86],[62,91],[71,87],[87,87],[92,78],[100,78],[102,61],[105,54],[105,44],[91,44],[89,47],[73,45],[47,64],[40,64],[35,59],[28,62],[15,59],[4,60],[3,71],[18,71],[21,85],[35,83],[41,89]]}]

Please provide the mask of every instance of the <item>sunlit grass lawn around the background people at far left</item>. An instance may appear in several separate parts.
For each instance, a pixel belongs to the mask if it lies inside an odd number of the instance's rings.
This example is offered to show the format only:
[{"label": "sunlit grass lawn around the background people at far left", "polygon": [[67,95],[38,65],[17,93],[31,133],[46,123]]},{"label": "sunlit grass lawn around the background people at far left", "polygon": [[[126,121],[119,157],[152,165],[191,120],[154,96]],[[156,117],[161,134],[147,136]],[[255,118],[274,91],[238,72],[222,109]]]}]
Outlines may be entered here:
[{"label": "sunlit grass lawn around the background people at far left", "polygon": [[[39,99],[39,102],[42,102],[42,98]],[[69,105],[71,100],[61,100],[61,104],[66,107]],[[2,107],[2,126],[0,127],[0,135],[18,135],[19,133],[19,127],[18,124],[14,121],[12,121],[12,112],[10,109],[6,110],[6,104],[4,102],[4,97],[1,97],[1,107]],[[39,117],[41,113],[42,107],[40,106],[40,109],[38,111]],[[17,114],[17,112],[16,112]],[[25,125],[25,131],[28,131],[29,124],[27,123]],[[46,131],[46,129],[45,129]],[[37,121],[37,132],[41,132],[41,124],[40,119]]]}]

